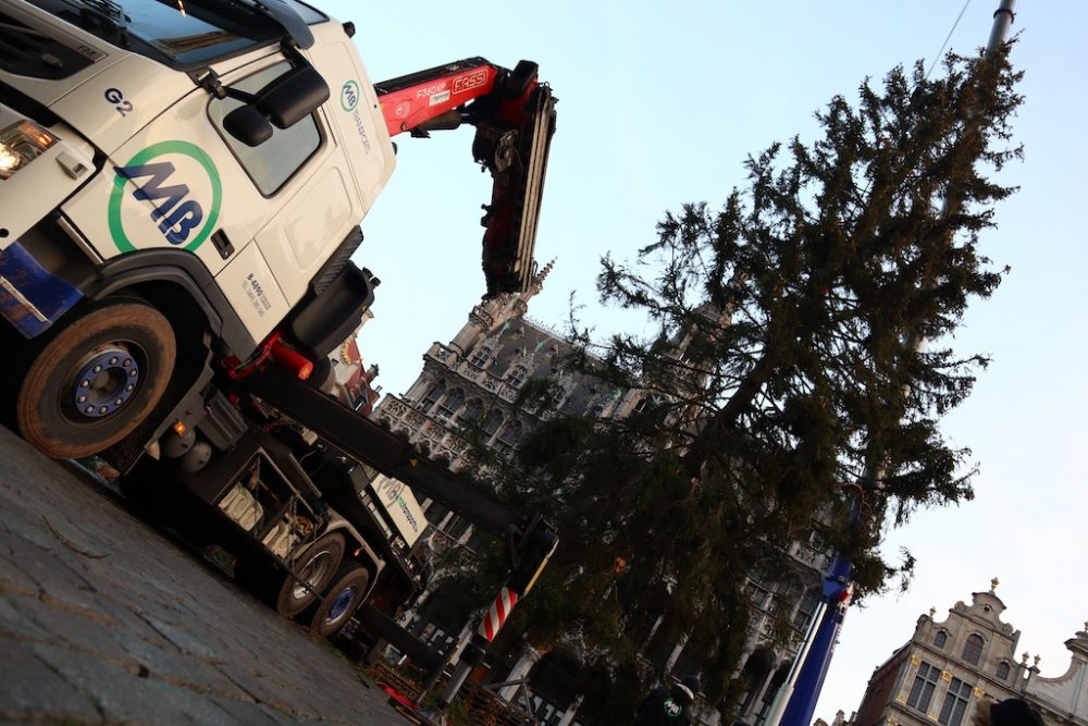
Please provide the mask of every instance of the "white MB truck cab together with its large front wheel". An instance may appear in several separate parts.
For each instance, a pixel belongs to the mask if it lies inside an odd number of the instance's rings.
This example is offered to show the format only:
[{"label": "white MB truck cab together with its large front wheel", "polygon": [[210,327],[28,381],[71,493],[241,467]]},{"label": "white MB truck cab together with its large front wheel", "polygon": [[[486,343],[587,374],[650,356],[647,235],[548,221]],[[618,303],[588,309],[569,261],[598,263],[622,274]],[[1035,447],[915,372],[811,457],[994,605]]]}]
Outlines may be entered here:
[{"label": "white MB truck cab together with its large front wheel", "polygon": [[[208,332],[240,360],[285,320],[343,341],[318,298],[368,304],[348,257],[395,164],[351,32],[296,0],[0,1],[0,311],[63,364],[20,393],[33,443],[120,440]],[[34,434],[61,423],[83,443]]]}]

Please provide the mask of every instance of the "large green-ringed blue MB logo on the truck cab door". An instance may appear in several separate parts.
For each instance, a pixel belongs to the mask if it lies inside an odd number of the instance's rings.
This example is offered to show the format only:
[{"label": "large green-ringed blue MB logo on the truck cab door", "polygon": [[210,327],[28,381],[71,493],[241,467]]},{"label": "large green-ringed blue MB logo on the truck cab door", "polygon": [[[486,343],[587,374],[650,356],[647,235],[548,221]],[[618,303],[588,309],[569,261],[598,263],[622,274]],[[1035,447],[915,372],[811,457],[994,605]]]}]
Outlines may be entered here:
[{"label": "large green-ringed blue MB logo on the truck cab door", "polygon": [[196,145],[153,144],[113,171],[108,216],[121,251],[158,246],[156,237],[195,251],[214,230],[223,187],[211,157]]}]

